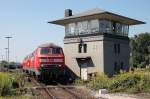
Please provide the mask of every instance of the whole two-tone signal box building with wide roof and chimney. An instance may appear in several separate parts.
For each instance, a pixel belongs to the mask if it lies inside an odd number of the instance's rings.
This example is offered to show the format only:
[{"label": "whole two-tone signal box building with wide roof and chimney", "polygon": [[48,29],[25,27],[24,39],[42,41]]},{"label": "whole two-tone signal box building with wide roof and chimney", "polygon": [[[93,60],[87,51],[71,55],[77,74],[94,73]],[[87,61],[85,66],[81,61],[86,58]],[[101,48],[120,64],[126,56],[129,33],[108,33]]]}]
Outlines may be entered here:
[{"label": "whole two-tone signal box building with wide roof and chimney", "polygon": [[144,24],[97,8],[75,15],[67,9],[64,18],[49,23],[65,27],[66,66],[83,79],[97,73],[128,71],[129,26]]}]

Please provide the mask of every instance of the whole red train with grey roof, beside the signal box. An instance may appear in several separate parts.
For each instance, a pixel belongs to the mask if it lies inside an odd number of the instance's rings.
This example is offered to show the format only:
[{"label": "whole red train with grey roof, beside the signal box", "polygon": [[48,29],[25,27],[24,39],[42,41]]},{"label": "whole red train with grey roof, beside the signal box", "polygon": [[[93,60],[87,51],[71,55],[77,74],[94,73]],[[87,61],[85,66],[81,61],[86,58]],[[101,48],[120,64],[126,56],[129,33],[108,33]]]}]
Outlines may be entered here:
[{"label": "whole red train with grey roof, beside the signal box", "polygon": [[60,46],[43,44],[23,60],[23,71],[38,79],[57,79],[64,74],[64,61],[64,53]]}]

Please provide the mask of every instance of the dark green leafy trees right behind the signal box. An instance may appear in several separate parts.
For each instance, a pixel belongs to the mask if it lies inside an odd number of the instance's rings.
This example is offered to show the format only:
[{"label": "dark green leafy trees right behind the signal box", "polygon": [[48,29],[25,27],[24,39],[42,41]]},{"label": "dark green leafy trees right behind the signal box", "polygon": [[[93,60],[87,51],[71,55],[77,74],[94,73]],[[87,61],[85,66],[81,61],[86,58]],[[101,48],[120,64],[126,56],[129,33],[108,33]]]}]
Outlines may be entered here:
[{"label": "dark green leafy trees right behind the signal box", "polygon": [[133,67],[150,66],[150,33],[141,33],[130,39]]}]

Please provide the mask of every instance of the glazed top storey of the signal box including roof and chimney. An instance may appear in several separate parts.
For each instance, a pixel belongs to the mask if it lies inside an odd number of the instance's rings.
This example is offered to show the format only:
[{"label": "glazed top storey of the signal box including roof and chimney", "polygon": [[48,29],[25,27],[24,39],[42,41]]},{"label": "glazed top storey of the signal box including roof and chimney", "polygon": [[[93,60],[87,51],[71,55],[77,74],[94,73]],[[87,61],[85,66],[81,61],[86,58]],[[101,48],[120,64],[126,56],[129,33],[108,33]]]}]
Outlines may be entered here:
[{"label": "glazed top storey of the signal box including roof and chimney", "polygon": [[130,25],[145,22],[96,8],[76,15],[67,9],[65,18],[49,23],[65,26],[65,37],[104,33],[127,37]]}]

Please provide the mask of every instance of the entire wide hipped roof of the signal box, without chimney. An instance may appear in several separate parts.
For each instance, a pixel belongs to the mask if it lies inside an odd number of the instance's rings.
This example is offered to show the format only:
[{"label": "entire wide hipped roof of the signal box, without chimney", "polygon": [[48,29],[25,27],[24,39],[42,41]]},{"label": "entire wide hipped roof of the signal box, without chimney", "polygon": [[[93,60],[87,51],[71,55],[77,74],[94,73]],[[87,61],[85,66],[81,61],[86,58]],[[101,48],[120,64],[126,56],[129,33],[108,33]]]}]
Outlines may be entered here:
[{"label": "entire wide hipped roof of the signal box, without chimney", "polygon": [[75,14],[69,17],[64,17],[62,19],[49,21],[48,23],[53,23],[53,24],[64,26],[68,23],[80,22],[80,21],[90,20],[90,19],[106,19],[106,20],[112,20],[112,21],[120,22],[120,23],[127,24],[127,25],[145,24],[145,22],[132,19],[132,18],[128,18],[125,16],[121,16],[119,14],[108,12],[99,8],[88,10],[83,13]]}]

